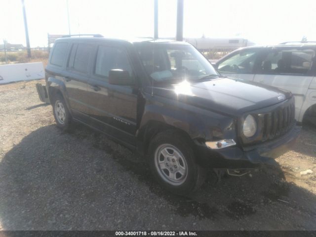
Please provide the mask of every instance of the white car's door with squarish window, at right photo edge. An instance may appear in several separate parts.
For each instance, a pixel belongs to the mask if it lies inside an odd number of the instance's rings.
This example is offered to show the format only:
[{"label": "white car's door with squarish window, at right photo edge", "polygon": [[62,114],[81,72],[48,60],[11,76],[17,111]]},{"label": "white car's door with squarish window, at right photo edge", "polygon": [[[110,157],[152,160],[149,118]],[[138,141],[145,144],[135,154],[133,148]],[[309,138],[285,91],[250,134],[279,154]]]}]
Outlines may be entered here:
[{"label": "white car's door with squarish window, at right photo edge", "polygon": [[313,80],[315,50],[309,47],[270,48],[257,68],[254,81],[289,90],[295,97],[295,118],[300,121],[302,105]]}]

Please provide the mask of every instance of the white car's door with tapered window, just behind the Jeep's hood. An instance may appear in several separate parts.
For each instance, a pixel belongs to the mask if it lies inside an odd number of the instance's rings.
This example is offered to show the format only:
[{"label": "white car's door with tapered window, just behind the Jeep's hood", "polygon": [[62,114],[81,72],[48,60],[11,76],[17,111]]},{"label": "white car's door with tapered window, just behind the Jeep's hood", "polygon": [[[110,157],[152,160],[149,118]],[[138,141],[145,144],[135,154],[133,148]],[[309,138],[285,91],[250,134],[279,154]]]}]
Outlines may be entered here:
[{"label": "white car's door with tapered window, just behind the Jeep's hood", "polygon": [[262,50],[260,48],[238,50],[216,63],[217,71],[230,78],[253,80],[254,69],[260,61]]}]

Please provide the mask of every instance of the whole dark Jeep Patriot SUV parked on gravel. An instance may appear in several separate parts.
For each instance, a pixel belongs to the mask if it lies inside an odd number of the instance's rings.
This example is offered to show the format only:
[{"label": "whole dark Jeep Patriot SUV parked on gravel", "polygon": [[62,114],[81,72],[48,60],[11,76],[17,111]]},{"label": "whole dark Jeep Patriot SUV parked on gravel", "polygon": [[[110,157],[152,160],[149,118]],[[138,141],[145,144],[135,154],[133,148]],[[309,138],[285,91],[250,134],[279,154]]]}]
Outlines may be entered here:
[{"label": "whole dark Jeep Patriot SUV parked on gravel", "polygon": [[45,75],[37,87],[58,127],[79,121],[106,133],[178,194],[196,190],[207,167],[273,161],[300,132],[290,92],[222,77],[185,42],[62,38]]}]

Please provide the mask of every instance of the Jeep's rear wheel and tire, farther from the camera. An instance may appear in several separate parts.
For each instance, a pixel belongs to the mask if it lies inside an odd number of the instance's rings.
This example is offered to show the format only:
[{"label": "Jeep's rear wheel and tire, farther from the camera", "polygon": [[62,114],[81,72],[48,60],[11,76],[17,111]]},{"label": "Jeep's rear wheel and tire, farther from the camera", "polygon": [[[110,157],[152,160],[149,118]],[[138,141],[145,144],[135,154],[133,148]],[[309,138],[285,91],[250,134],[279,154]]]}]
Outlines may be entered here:
[{"label": "Jeep's rear wheel and tire, farther from the camera", "polygon": [[56,121],[57,127],[68,130],[71,124],[71,114],[67,108],[63,96],[59,93],[53,96],[53,115]]}]

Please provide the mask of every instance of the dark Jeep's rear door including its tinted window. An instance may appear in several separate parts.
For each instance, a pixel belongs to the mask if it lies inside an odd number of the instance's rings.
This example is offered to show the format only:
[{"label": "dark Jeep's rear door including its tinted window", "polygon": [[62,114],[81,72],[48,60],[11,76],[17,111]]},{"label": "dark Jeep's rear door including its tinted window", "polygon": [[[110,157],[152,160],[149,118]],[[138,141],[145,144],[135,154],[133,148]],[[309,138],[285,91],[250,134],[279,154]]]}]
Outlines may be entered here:
[{"label": "dark Jeep's rear door including its tinted window", "polygon": [[72,114],[88,122],[87,81],[93,45],[82,41],[74,42],[66,64],[64,82]]}]

